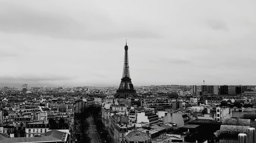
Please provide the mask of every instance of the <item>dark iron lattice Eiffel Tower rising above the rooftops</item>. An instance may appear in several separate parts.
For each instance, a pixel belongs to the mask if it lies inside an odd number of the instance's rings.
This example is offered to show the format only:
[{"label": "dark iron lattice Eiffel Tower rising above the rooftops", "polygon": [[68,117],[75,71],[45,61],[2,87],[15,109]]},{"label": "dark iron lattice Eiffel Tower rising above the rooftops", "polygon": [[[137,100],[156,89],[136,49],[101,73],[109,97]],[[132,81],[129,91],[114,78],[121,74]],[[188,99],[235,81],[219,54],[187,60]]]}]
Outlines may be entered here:
[{"label": "dark iron lattice Eiffel Tower rising above the rooftops", "polygon": [[124,63],[123,63],[123,75],[116,91],[115,98],[128,98],[128,97],[138,97],[136,91],[134,90],[132,79],[130,77],[129,71],[129,60],[128,60],[128,46],[127,43],[124,46]]}]

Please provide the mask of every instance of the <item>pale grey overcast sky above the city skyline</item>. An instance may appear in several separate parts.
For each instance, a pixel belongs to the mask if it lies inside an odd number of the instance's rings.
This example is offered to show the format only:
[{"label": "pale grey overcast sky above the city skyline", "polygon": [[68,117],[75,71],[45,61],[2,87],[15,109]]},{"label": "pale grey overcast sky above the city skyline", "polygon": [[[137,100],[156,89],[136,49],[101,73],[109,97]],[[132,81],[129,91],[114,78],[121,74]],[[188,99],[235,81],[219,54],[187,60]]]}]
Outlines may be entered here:
[{"label": "pale grey overcast sky above the city skyline", "polygon": [[0,85],[256,84],[256,1],[0,1]]}]

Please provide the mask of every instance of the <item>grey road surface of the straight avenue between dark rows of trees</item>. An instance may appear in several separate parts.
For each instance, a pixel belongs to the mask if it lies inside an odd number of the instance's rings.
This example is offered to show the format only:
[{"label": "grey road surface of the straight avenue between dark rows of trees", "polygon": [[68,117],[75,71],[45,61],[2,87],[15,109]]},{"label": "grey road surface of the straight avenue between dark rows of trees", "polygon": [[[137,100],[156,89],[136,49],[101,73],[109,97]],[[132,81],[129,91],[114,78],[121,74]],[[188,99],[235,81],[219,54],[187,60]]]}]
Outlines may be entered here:
[{"label": "grey road surface of the straight avenue between dark rows of trees", "polygon": [[89,130],[88,130],[88,132],[89,132],[88,135],[91,137],[91,142],[92,143],[101,143],[98,131],[96,129],[96,125],[94,124],[94,121],[93,121],[93,117],[87,118],[87,121],[90,125]]}]

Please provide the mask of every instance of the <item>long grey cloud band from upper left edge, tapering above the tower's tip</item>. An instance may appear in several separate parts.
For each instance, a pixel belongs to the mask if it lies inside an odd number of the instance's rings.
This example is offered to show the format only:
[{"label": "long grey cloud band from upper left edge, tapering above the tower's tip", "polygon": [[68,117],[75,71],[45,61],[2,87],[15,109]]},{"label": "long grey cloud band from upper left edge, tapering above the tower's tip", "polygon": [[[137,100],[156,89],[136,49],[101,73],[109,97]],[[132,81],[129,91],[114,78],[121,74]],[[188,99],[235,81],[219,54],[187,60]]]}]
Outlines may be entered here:
[{"label": "long grey cloud band from upper left edge, tapering above the tower's tip", "polygon": [[115,31],[116,25],[105,14],[86,11],[83,16],[81,19],[76,20],[58,13],[0,3],[0,31],[85,40],[110,40],[120,37],[159,37],[159,35],[150,30],[130,31],[121,29]]}]

